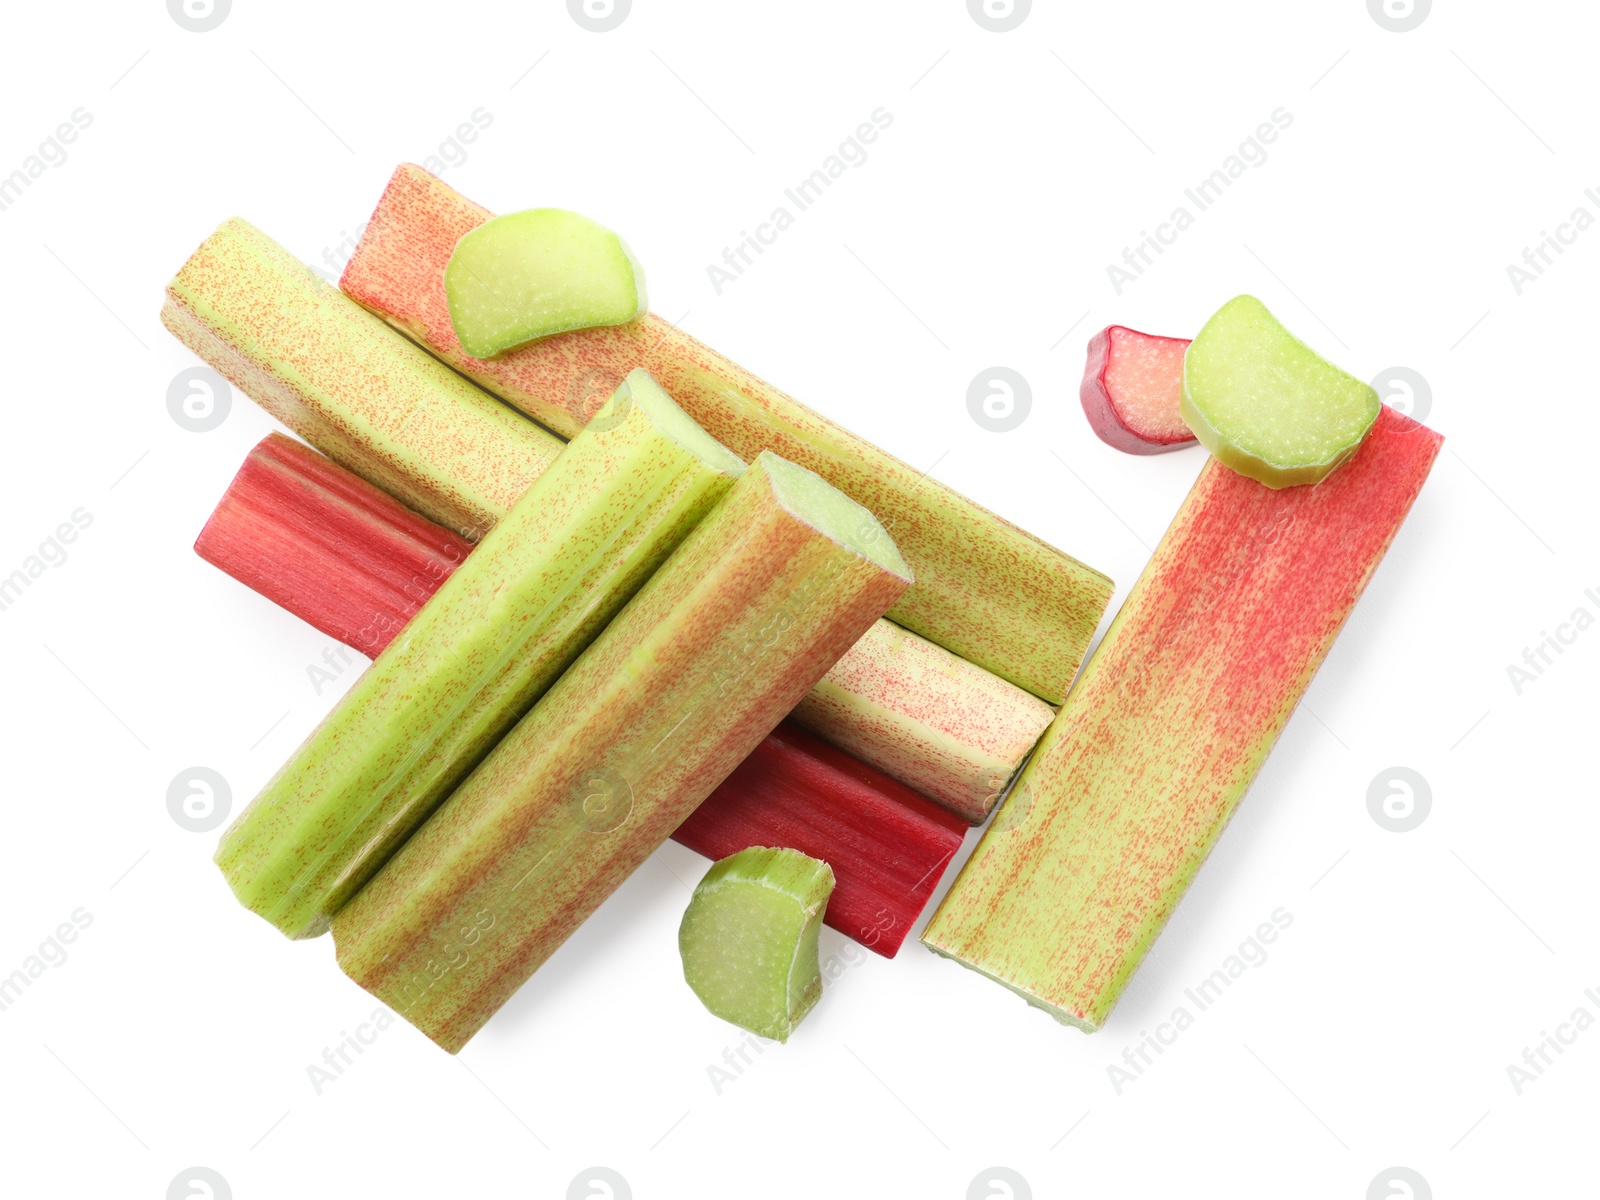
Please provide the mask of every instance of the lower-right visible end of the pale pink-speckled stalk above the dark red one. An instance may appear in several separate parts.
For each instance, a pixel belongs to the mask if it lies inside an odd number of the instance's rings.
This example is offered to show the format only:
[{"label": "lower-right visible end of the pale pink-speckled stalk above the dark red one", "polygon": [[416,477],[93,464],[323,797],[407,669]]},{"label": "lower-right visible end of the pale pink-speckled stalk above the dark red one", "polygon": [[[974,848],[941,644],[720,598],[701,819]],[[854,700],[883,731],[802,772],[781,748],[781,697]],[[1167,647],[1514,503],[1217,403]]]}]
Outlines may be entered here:
[{"label": "lower-right visible end of the pale pink-speckled stalk above the dark red one", "polygon": [[878,621],[794,710],[795,723],[981,824],[1056,710]]}]

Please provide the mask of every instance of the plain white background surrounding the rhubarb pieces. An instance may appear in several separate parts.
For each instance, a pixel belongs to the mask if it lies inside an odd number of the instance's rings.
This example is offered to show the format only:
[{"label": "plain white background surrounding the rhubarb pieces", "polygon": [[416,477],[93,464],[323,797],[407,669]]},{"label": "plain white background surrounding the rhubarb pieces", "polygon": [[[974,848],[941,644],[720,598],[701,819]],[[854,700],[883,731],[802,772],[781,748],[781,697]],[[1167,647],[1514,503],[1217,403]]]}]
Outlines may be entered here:
[{"label": "plain white background surrounding the rhubarb pieces", "polygon": [[[93,525],[0,613],[0,974],[74,910],[93,923],[0,1013],[0,1192],[160,1200],[205,1165],[240,1200],[566,1197],[603,1165],[642,1200],[960,1200],[1003,1195],[968,1186],[1005,1166],[1016,1195],[1360,1200],[1402,1165],[1435,1197],[1594,1195],[1600,1027],[1522,1094],[1507,1066],[1600,1018],[1600,630],[1522,694],[1507,666],[1600,616],[1600,230],[1522,294],[1506,270],[1600,216],[1592,6],[1440,0],[1405,34],[1363,0],[1038,3],[1005,34],[955,0],[635,0],[606,34],[554,0],[235,0],[205,34],[158,0],[3,19],[0,174],[75,109],[93,125],[0,211],[0,574],[75,509]],[[867,162],[718,296],[723,246],[880,106]],[[235,395],[181,429],[166,387],[194,358],[157,310],[230,214],[322,261],[480,107],[448,182],[622,230],[659,314],[1118,598],[1202,458],[1093,437],[1096,328],[1187,336],[1251,291],[1363,378],[1426,378],[1434,477],[1101,1034],[912,941],[718,1094],[741,1035],[682,982],[704,864],[669,845],[459,1059],[395,1024],[314,1090],[374,1002],[328,941],[238,909],[218,834],[165,797],[205,765],[237,811],[334,701],[307,680],[328,640],[192,554],[272,421]],[[1266,163],[1118,296],[1107,264],[1278,107]],[[992,365],[1032,384],[1010,434],[966,411]],[[1366,808],[1397,765],[1432,790],[1408,834]],[[1107,1067],[1278,907],[1267,962],[1118,1094]]]}]

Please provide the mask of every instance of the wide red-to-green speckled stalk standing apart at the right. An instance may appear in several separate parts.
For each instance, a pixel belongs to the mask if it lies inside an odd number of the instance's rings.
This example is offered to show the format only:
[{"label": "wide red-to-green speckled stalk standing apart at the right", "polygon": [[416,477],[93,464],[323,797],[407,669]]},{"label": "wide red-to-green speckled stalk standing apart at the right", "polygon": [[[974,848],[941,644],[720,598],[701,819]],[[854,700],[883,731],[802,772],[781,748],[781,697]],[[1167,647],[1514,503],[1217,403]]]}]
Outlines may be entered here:
[{"label": "wide red-to-green speckled stalk standing apart at the right", "polygon": [[1442,442],[1386,408],[1317,486],[1272,490],[1211,459],[922,941],[1099,1029]]}]

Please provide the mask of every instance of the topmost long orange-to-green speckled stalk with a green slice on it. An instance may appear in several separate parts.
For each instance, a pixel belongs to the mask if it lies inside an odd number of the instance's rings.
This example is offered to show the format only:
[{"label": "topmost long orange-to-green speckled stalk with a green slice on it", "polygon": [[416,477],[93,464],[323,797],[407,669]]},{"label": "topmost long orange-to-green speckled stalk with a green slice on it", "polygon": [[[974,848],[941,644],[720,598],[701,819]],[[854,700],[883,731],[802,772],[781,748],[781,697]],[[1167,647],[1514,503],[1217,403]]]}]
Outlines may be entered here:
[{"label": "topmost long orange-to-green speckled stalk with a green slice on it", "polygon": [[558,434],[582,426],[634,366],[646,366],[706,430],[744,459],[771,450],[878,515],[917,574],[890,613],[901,626],[1059,704],[1110,603],[1110,581],[973,504],[776,387],[646,315],[546,338],[499,358],[461,350],[443,270],[493,216],[421,166],[389,181],[341,286],[490,392]]}]

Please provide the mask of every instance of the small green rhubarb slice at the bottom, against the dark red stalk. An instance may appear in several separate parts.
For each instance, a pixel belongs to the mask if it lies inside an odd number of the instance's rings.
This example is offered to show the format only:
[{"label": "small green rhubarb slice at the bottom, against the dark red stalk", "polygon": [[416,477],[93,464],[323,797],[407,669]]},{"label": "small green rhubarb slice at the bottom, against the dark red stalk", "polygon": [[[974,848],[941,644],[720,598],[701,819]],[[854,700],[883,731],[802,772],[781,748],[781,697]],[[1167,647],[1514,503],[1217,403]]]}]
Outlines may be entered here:
[{"label": "small green rhubarb slice at the bottom, against the dark red stalk", "polygon": [[832,891],[827,862],[794,850],[715,862],[678,926],[685,982],[712,1014],[787,1042],[822,998],[816,939]]}]

